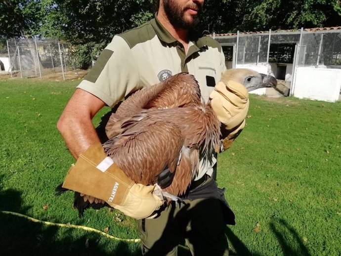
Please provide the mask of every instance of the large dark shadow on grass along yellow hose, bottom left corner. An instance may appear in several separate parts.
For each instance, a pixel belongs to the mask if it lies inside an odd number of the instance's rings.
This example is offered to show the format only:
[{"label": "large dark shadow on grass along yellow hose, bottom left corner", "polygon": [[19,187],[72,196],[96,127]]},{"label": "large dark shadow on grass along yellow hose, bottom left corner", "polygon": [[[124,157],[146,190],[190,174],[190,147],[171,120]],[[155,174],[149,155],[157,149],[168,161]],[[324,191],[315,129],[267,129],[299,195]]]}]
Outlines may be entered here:
[{"label": "large dark shadow on grass along yellow hose, bottom left corner", "polygon": [[[0,192],[1,210],[25,213],[28,208],[22,208],[21,204],[20,192],[15,190]],[[136,246],[133,248],[131,243],[112,243],[109,240],[92,232],[48,226],[22,217],[0,213],[0,254],[3,256],[141,255],[140,249]]]}]

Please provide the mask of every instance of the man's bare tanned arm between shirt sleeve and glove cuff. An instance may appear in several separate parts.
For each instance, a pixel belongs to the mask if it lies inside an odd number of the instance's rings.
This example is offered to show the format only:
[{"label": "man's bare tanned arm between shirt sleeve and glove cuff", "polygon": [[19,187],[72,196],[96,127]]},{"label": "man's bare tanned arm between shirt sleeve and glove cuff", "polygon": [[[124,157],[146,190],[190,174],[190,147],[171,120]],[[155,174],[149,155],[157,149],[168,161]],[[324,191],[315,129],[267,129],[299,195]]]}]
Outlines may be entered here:
[{"label": "man's bare tanned arm between shirt sleeve and glove cuff", "polygon": [[82,89],[76,89],[60,116],[57,128],[77,160],[90,145],[99,142],[92,118],[105,103]]}]

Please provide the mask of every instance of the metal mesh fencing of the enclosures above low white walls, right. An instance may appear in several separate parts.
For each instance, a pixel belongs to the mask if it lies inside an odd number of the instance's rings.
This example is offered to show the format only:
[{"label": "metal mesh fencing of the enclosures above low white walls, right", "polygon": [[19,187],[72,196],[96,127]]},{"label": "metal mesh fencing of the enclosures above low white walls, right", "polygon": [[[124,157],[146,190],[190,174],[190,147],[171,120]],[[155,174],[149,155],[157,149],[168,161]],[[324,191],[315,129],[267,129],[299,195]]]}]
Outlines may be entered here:
[{"label": "metal mesh fencing of the enclosures above low white walls, right", "polygon": [[213,35],[213,38],[222,45],[226,60],[232,61],[232,67],[292,63],[297,67],[341,69],[340,29],[238,32]]}]

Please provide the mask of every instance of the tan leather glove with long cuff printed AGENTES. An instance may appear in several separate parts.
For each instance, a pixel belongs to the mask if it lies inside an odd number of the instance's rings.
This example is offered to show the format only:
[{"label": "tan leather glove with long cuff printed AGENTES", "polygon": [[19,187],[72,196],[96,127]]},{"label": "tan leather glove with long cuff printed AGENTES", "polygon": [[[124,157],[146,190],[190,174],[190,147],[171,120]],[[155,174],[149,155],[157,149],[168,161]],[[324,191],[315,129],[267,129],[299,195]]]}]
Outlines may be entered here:
[{"label": "tan leather glove with long cuff printed AGENTES", "polygon": [[101,143],[91,145],[68,171],[63,187],[103,199],[126,215],[139,219],[159,210],[164,200],[155,186],[136,184],[107,157]]}]

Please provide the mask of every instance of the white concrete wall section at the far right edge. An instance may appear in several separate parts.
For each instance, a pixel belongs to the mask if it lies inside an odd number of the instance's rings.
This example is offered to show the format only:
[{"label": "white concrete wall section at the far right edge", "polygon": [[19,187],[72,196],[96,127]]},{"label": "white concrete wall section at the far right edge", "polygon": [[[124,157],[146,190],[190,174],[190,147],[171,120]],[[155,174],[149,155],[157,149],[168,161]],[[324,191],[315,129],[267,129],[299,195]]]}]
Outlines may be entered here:
[{"label": "white concrete wall section at the far right edge", "polygon": [[297,68],[294,96],[335,102],[341,89],[341,69]]}]

